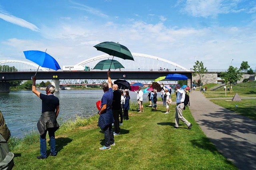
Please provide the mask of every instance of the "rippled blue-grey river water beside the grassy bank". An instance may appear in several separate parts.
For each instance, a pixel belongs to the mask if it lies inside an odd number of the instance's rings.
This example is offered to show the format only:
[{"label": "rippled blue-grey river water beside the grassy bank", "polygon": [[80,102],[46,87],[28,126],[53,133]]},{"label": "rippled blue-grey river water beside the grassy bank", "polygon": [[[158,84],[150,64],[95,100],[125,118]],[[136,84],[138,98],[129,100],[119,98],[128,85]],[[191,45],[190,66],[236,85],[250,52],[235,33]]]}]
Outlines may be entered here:
[{"label": "rippled blue-grey river water beside the grassy bank", "polygon": [[[40,91],[45,94],[45,91]],[[97,114],[96,101],[104,94],[103,90],[63,90],[54,95],[60,99],[59,123],[76,119],[76,115],[89,118]],[[147,100],[148,93],[143,99]],[[159,97],[160,93],[158,94]],[[136,102],[137,94],[130,92],[131,101]],[[36,124],[42,112],[42,101],[32,91],[11,91],[0,93],[0,111],[12,136],[22,138]]]}]

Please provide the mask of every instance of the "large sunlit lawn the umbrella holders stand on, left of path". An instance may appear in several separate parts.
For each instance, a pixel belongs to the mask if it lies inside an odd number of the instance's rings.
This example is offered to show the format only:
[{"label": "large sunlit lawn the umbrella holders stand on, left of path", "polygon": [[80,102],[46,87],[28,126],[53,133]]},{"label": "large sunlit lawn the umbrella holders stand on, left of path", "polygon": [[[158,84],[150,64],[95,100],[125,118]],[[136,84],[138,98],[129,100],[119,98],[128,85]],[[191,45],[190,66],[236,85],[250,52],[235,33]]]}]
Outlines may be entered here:
[{"label": "large sunlit lawn the umbrella holders stand on, left of path", "polygon": [[[136,103],[132,108],[137,108]],[[124,121],[111,150],[98,149],[104,144],[104,134],[96,126],[97,116],[85,124],[79,120],[78,124],[62,125],[56,135],[57,157],[37,160],[39,140],[22,141],[12,150],[14,169],[236,169],[206,138],[189,109],[184,117],[193,124],[192,130],[182,122],[175,129],[174,109],[171,105],[170,114],[164,114],[165,107],[158,104],[158,111],[151,107],[144,107],[143,113],[130,111],[130,120]]]}]

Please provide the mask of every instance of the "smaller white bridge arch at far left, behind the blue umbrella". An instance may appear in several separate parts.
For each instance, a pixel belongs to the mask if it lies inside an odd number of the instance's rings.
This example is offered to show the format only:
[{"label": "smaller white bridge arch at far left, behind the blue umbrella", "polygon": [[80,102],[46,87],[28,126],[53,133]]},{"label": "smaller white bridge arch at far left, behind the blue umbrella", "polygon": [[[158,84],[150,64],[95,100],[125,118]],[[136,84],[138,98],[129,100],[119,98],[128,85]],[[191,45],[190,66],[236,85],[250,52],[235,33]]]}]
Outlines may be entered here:
[{"label": "smaller white bridge arch at far left, behind the blue umbrella", "polygon": [[[37,64],[34,63],[30,63],[27,61],[20,61],[20,60],[2,60],[0,61],[0,65],[4,66],[4,65],[8,65],[10,67],[15,67],[15,69],[18,69],[18,71],[35,71],[38,69]],[[2,70],[0,71],[4,71],[4,67],[1,67]],[[11,69],[11,68],[9,68]],[[49,71],[48,69],[45,69],[44,67],[39,67],[40,71]],[[12,70],[8,70],[8,71],[12,71]]]}]

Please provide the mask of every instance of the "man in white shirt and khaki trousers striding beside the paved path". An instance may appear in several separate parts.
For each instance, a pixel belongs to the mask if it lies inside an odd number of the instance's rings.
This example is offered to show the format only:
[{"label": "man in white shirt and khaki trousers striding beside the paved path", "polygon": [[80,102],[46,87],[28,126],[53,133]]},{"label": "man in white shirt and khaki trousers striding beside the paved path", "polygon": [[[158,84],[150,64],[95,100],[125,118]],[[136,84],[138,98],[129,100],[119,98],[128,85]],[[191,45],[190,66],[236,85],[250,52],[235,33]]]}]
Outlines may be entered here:
[{"label": "man in white shirt and khaki trousers striding beside the paved path", "polygon": [[175,126],[174,128],[179,128],[179,121],[181,120],[188,126],[188,129],[191,129],[192,124],[188,122],[182,115],[182,109],[184,109],[184,100],[185,100],[185,91],[184,89],[180,89],[180,85],[177,84],[175,86],[177,91],[177,98],[176,98],[176,109],[175,109]]}]

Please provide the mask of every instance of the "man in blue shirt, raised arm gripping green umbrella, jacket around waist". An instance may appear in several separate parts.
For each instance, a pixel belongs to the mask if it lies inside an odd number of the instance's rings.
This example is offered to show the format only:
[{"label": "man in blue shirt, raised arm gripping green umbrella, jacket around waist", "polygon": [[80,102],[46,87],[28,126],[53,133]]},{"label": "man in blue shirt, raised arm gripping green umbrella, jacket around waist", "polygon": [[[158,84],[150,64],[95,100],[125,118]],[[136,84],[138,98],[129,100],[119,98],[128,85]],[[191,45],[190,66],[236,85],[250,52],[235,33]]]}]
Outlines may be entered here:
[{"label": "man in blue shirt, raised arm gripping green umbrella, jacket around waist", "polygon": [[110,71],[108,71],[108,83],[102,84],[102,89],[104,94],[101,99],[101,109],[99,111],[99,121],[98,125],[101,130],[104,131],[105,144],[100,150],[111,149],[111,145],[115,145],[114,134],[113,134],[113,113],[112,113],[112,101],[113,101],[113,91],[112,91],[112,82],[110,78]]}]

